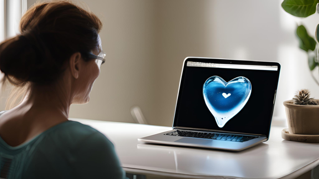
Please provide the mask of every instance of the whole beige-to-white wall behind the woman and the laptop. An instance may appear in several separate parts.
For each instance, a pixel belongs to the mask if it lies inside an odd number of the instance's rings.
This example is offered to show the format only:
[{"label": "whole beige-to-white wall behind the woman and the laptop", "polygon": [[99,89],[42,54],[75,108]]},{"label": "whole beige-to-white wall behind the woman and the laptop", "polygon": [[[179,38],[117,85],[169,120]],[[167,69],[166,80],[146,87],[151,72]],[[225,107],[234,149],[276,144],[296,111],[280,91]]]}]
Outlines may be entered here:
[{"label": "whole beige-to-white wall behind the woman and the laptop", "polygon": [[[28,0],[28,7],[35,0]],[[70,117],[134,122],[141,107],[152,125],[171,126],[182,61],[187,56],[277,61],[282,65],[274,118],[285,122],[284,100],[301,88],[319,98],[296,22],[281,0],[84,0],[103,21],[109,60],[91,102],[72,105]],[[318,15],[303,19],[314,34]],[[318,69],[316,69],[318,75]],[[318,75],[319,76],[319,75]]]}]

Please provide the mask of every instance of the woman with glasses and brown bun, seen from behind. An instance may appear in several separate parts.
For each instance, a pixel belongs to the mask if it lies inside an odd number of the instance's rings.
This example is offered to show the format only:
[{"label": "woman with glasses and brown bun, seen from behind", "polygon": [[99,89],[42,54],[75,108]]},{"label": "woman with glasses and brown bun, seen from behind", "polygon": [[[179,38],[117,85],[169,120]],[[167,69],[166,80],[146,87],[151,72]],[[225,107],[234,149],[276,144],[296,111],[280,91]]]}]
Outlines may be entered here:
[{"label": "woman with glasses and brown bun, seen from behind", "polygon": [[15,38],[0,44],[4,81],[24,89],[0,115],[0,178],[125,178],[113,144],[90,126],[69,121],[85,104],[105,53],[102,23],[65,1],[35,4]]}]

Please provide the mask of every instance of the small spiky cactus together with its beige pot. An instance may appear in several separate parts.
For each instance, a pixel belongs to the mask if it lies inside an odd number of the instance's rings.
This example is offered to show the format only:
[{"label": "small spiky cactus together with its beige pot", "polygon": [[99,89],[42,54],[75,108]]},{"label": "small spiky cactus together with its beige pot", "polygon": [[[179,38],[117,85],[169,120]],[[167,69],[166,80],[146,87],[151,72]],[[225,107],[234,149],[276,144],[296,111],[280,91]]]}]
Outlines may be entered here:
[{"label": "small spiky cactus together with its beige pot", "polygon": [[284,101],[290,134],[319,134],[319,100],[301,89],[292,100]]}]

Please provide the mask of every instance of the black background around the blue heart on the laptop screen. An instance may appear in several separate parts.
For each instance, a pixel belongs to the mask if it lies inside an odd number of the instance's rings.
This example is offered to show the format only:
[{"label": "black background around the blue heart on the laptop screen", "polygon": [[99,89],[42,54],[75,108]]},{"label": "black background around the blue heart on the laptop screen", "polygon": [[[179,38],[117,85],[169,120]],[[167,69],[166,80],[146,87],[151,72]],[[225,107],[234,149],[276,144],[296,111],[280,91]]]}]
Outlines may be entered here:
[{"label": "black background around the blue heart on the laptop screen", "polygon": [[[269,134],[278,72],[207,67],[186,67],[182,98],[177,115],[177,127],[222,130],[252,134]],[[219,128],[205,104],[204,82],[219,76],[226,82],[244,76],[251,82],[251,95],[246,105],[224,127]],[[182,85],[182,84],[181,84]],[[176,117],[176,116],[175,116]]]}]

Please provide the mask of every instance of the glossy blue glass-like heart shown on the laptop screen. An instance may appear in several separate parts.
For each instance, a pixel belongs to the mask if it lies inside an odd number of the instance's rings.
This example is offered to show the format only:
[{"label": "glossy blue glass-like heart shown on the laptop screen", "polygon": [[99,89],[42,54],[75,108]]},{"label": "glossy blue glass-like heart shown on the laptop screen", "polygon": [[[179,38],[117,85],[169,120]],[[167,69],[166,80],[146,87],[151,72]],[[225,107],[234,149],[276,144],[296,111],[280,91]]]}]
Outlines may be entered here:
[{"label": "glossy blue glass-like heart shown on the laptop screen", "polygon": [[212,76],[203,86],[205,103],[219,127],[233,118],[247,103],[251,93],[250,81],[239,76],[225,82],[219,76]]}]

